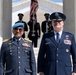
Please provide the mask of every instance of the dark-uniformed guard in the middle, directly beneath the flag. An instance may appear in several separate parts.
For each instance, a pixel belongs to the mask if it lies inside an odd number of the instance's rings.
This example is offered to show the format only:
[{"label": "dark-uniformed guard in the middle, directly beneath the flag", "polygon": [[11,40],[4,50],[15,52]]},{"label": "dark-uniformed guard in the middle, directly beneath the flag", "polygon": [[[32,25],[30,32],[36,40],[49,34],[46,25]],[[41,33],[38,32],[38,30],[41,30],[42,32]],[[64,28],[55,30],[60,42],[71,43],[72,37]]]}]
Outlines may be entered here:
[{"label": "dark-uniformed guard in the middle, directly beneath the flag", "polygon": [[36,21],[36,14],[32,17],[32,20],[28,22],[29,33],[28,38],[32,40],[34,47],[37,47],[38,38],[40,38],[40,24]]}]

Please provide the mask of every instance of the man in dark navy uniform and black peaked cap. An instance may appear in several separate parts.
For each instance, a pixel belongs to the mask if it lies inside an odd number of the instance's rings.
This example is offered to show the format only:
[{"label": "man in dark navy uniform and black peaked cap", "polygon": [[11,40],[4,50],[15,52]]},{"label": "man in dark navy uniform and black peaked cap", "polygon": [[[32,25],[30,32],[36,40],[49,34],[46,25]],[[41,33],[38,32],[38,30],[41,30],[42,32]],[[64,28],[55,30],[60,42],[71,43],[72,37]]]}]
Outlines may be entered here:
[{"label": "man in dark navy uniform and black peaked cap", "polygon": [[[76,75],[76,44],[74,35],[63,30],[66,16],[51,14],[54,31],[44,34],[39,54],[39,75]],[[72,55],[72,62],[71,62]]]}]

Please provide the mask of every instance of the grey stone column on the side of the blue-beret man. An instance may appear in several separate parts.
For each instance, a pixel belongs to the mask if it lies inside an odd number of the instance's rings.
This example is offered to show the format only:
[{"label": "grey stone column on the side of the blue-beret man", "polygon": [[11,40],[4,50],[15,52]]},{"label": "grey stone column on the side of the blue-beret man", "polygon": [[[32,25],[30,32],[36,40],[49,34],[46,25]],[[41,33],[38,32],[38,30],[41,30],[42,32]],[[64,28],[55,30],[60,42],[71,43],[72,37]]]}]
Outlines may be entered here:
[{"label": "grey stone column on the side of the blue-beret man", "polygon": [[0,36],[3,39],[11,37],[12,0],[0,0]]}]

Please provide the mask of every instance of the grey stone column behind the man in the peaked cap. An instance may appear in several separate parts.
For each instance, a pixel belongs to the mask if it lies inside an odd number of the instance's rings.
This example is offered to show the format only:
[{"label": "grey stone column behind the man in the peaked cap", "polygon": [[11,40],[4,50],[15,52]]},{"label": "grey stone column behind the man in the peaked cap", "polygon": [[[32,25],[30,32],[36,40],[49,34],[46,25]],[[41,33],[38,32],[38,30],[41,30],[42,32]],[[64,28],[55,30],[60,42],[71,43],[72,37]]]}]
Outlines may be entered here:
[{"label": "grey stone column behind the man in the peaked cap", "polygon": [[76,0],[63,0],[63,12],[66,15],[64,29],[76,38]]}]

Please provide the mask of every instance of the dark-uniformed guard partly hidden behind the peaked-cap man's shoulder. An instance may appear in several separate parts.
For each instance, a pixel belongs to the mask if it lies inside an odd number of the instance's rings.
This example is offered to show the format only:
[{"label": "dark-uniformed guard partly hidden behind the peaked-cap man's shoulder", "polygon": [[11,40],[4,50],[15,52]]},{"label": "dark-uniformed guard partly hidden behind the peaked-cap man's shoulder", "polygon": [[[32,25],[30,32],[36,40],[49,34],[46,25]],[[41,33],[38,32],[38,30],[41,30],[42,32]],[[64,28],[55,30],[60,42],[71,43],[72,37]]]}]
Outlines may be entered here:
[{"label": "dark-uniformed guard partly hidden behind the peaked-cap man's shoulder", "polygon": [[45,13],[44,16],[45,16],[45,21],[43,21],[41,24],[41,30],[45,34],[45,33],[48,33],[48,31],[49,31],[48,30],[49,29],[48,23],[51,21],[50,21],[50,14],[49,13]]}]

